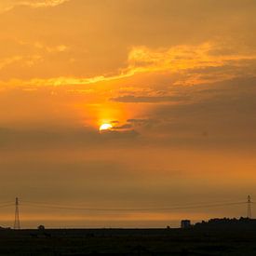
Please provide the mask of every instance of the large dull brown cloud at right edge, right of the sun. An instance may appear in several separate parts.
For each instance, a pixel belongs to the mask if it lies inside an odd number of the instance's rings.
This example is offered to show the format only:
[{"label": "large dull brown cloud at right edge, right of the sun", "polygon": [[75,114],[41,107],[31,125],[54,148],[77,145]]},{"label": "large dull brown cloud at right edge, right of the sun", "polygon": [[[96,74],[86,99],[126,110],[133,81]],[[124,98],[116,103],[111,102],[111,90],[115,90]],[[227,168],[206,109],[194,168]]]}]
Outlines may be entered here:
[{"label": "large dull brown cloud at right edge, right of the sun", "polygon": [[158,105],[151,113],[152,118],[161,120],[153,127],[155,133],[161,133],[170,144],[196,144],[207,139],[219,145],[253,146],[256,79],[233,79],[204,87],[191,91],[195,101]]}]

